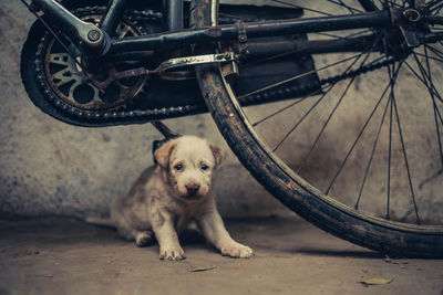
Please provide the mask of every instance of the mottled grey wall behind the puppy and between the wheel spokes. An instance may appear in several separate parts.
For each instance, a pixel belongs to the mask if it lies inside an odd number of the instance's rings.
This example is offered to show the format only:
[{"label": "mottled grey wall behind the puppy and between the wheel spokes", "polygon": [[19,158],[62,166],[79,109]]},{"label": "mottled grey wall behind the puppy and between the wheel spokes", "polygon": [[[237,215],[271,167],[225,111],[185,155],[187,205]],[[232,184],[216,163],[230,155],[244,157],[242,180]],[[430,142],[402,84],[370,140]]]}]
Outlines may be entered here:
[{"label": "mottled grey wall behind the puppy and between the wheel spokes", "polygon": [[[152,165],[152,141],[161,138],[148,124],[107,128],[81,128],[70,126],[49,117],[32,105],[20,82],[20,50],[33,17],[19,1],[0,2],[0,217],[70,215],[85,217],[106,214],[110,202],[125,193],[132,181],[147,166]],[[332,56],[333,57],[333,56]],[[316,59],[321,66],[328,59]],[[420,213],[429,220],[443,215],[442,176],[440,156],[435,141],[433,114],[421,116],[430,110],[429,96],[420,83],[411,80],[411,73],[402,72],[406,83],[398,88],[399,108],[404,118],[405,141],[413,173],[413,186],[418,194]],[[441,69],[435,80],[441,82]],[[411,82],[409,81],[411,80]],[[301,176],[318,183],[320,189],[328,187],[337,167],[363,125],[387,83],[387,73],[372,73],[357,78],[349,91],[346,104],[334,115],[326,136],[319,141]],[[442,85],[442,83],[440,83]],[[331,98],[323,102],[320,110],[312,115],[277,150],[290,166],[297,167],[310,144],[327,120],[326,110],[331,109],[340,97],[346,84],[331,92]],[[315,99],[315,98],[309,98]],[[313,101],[307,99],[291,112],[259,125],[257,131],[270,146],[291,128],[295,118],[300,117]],[[310,102],[310,103],[309,103]],[[384,101],[385,102],[385,101]],[[288,102],[251,107],[246,112],[256,120],[272,110],[286,106]],[[384,103],[382,104],[384,107]],[[326,109],[326,110],[323,110]],[[441,105],[440,105],[440,109]],[[432,110],[432,109],[431,109]],[[374,115],[380,122],[382,112]],[[416,116],[419,115],[419,116]],[[406,122],[408,118],[413,118]],[[218,202],[225,217],[289,215],[289,210],[269,196],[239,165],[228,150],[215,124],[208,115],[169,119],[169,127],[182,134],[207,137],[220,145],[226,159],[219,171]],[[443,128],[442,128],[443,129]],[[353,204],[368,157],[372,148],[377,123],[368,126],[369,136],[358,145],[343,171],[337,179],[331,194],[343,202]],[[372,134],[372,137],[371,137]],[[369,173],[371,183],[364,190],[362,206],[375,213],[385,211],[387,180],[382,165],[385,165],[388,150],[388,128],[383,127],[382,138]],[[402,152],[398,148],[399,137],[394,136],[396,148],[393,160],[391,214],[412,219],[411,197]],[[384,151],[383,151],[384,150]],[[426,155],[424,159],[423,155]],[[440,166],[439,166],[440,165]],[[370,199],[369,197],[373,197]]]}]

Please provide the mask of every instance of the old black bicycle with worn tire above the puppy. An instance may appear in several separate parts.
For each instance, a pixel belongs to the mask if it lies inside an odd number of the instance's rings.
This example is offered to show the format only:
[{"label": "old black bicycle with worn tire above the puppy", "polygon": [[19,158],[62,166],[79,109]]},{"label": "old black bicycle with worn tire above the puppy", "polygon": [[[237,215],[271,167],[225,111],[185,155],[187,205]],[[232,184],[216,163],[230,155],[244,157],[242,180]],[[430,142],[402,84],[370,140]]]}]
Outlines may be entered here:
[{"label": "old black bicycle with worn tire above the puppy", "polygon": [[[216,0],[171,0],[163,6],[113,0],[106,7],[86,7],[81,1],[65,1],[65,7],[53,0],[22,2],[39,18],[22,50],[22,80],[43,112],[89,127],[154,122],[166,136],[171,130],[157,120],[209,112],[241,164],[303,219],[389,255],[443,257],[443,226],[425,224],[442,208],[432,197],[441,196],[443,173],[443,98],[437,83],[443,76],[439,67],[443,1],[328,0],[321,10],[313,2],[306,7],[282,0],[271,0],[275,6],[269,7],[218,4]],[[328,4],[333,13],[324,11]],[[361,83],[363,75],[363,82],[371,83],[381,74],[388,81],[374,101],[357,97],[350,102],[359,103],[357,108],[337,115],[351,86]],[[414,86],[411,80],[427,93],[426,104],[418,101],[414,108],[405,108],[398,93],[408,84]],[[245,108],[261,104],[269,106],[269,115],[261,118],[254,118],[254,108]],[[310,124],[296,141],[306,149],[305,156],[279,155],[280,146],[328,104],[322,123]],[[350,109],[364,110],[365,117],[348,128],[331,125],[337,116],[348,119]],[[289,126],[281,125],[287,130],[280,138],[274,130],[261,130],[277,116],[284,116],[277,122],[286,123],[288,110],[296,116],[289,117]],[[400,116],[400,110],[408,116]],[[424,117],[425,110],[431,117]],[[411,126],[421,126],[416,118],[404,124],[412,115],[427,120],[431,128],[424,129],[432,129],[432,138],[424,133],[405,134]],[[333,146],[324,139],[328,128],[340,128],[332,133],[338,138]],[[343,145],[340,134],[352,128],[357,128],[353,139]],[[311,144],[305,147],[308,139]],[[413,146],[414,139],[429,144],[425,152]],[[356,156],[359,146],[368,147],[364,160],[361,152]],[[328,164],[336,167],[330,180],[303,172],[326,159],[323,150],[340,147],[346,152],[340,162]],[[414,159],[423,156],[421,170],[410,167],[411,150]],[[344,181],[337,182],[350,160],[356,162],[351,168],[362,167],[361,171],[351,169]],[[380,169],[374,172],[373,167]],[[398,187],[401,175],[404,188]],[[421,180],[414,178],[418,175]],[[380,186],[369,186],[370,180]],[[399,199],[399,193],[408,197]],[[387,196],[383,213],[365,199],[371,194]],[[426,202],[427,211],[423,209]],[[403,206],[393,208],[399,203]],[[367,212],[370,209],[372,213]],[[431,212],[431,218],[423,218],[423,211]]]}]

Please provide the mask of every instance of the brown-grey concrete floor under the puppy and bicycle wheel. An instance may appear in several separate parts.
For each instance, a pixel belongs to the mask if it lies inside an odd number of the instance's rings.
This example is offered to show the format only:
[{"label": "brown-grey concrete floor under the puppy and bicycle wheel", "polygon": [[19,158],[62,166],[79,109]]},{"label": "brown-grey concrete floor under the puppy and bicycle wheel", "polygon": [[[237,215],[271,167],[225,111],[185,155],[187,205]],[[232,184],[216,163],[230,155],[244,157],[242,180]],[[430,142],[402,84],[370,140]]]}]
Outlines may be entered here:
[{"label": "brown-grey concrete floor under the puppy and bicycle wheel", "polygon": [[[389,260],[300,220],[227,222],[250,260],[187,235],[182,262],[80,221],[0,222],[0,294],[443,294],[443,261]],[[186,236],[185,236],[186,238]],[[367,286],[374,277],[389,284]]]}]

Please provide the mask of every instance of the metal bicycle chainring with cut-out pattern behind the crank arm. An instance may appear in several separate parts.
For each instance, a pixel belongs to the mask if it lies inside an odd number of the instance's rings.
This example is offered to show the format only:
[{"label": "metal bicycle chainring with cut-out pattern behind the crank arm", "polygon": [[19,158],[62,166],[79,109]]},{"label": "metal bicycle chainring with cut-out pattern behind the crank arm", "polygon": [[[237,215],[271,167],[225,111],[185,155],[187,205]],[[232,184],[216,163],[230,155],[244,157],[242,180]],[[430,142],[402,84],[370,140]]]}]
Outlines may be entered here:
[{"label": "metal bicycle chainring with cut-out pattern behind the crank arm", "polygon": [[[86,13],[81,15],[83,21],[99,24],[101,14]],[[135,25],[124,20],[117,28],[117,36],[137,36],[142,33]],[[66,41],[64,41],[66,44]],[[116,63],[110,63],[105,66],[105,75],[90,75],[82,65],[81,54],[72,44],[69,45],[71,56],[63,46],[51,35],[42,39],[40,48],[41,61],[43,61],[43,74],[48,87],[56,97],[68,105],[79,110],[112,110],[124,106],[131,101],[146,83],[146,76],[115,80],[105,88],[99,88],[86,80],[106,80],[110,73],[120,72]],[[39,54],[39,55],[40,55]],[[74,60],[75,59],[75,60]]]}]

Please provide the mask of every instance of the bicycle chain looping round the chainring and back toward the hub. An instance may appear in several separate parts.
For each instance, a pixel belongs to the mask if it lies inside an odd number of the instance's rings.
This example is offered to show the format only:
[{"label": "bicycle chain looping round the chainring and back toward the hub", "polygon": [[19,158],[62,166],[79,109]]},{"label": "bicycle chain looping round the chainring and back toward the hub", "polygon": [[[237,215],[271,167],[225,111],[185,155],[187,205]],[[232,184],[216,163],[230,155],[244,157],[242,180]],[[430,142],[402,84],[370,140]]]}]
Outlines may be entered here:
[{"label": "bicycle chain looping round the chainring and back toward the hub", "polygon": [[[85,7],[80,8],[73,11],[75,15],[87,15],[87,14],[103,14],[105,8],[103,7]],[[155,12],[153,10],[131,10],[125,12],[125,19],[137,24],[138,22],[148,22],[148,21],[157,21],[163,18],[161,12]],[[136,27],[140,31],[142,31],[142,25]],[[71,115],[81,117],[81,118],[94,118],[94,119],[109,119],[109,118],[127,118],[127,117],[152,117],[153,119],[163,118],[168,116],[177,116],[177,115],[187,115],[195,110],[202,108],[202,105],[184,105],[184,106],[175,106],[168,108],[153,108],[153,109],[137,109],[137,110],[124,110],[122,106],[114,110],[86,110],[74,107],[68,103],[65,103],[62,98],[60,98],[55,93],[52,92],[51,87],[48,85],[45,76],[43,74],[43,61],[44,61],[44,48],[45,43],[50,38],[50,33],[47,32],[40,41],[38,46],[38,51],[35,53],[35,71],[37,78],[43,89],[43,94],[48,99],[53,102],[56,107],[60,107],[63,110],[69,112]],[[398,59],[390,59],[383,62],[374,63],[371,65],[362,66],[356,71],[350,71],[348,73],[331,76],[328,78],[320,80],[318,83],[308,83],[301,86],[282,86],[277,87],[275,89],[269,89],[262,93],[249,95],[241,97],[240,104],[258,104],[260,102],[278,98],[278,97],[290,97],[291,95],[299,95],[300,93],[311,93],[313,91],[318,91],[321,86],[330,83],[337,83],[339,81],[346,80],[348,77],[358,76],[361,74],[365,74],[368,72],[381,69],[382,66],[387,66],[389,64],[394,63]],[[134,98],[134,97],[133,97]]]}]

